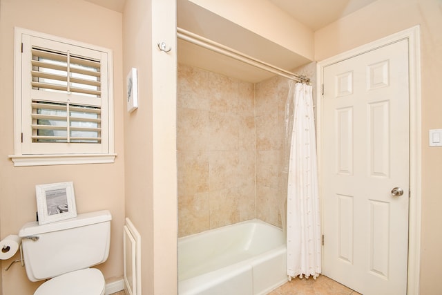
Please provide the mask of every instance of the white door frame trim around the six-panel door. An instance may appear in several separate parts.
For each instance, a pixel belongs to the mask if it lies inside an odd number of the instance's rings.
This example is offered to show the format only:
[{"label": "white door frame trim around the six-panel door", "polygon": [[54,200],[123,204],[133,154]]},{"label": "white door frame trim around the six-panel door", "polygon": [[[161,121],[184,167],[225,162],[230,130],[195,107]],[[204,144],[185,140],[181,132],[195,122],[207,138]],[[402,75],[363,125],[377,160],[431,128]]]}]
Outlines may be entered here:
[{"label": "white door frame trim around the six-panel door", "polygon": [[[408,39],[409,50],[409,91],[410,91],[410,199],[408,214],[408,269],[407,269],[407,295],[419,294],[419,270],[421,261],[421,46],[420,27],[402,30],[388,37],[378,39],[363,46],[359,46],[345,53],[319,61],[316,65],[316,137],[318,149],[318,169],[321,166],[321,124],[322,124],[322,90],[324,82],[324,68],[345,59],[362,55],[369,51],[387,46],[396,41]],[[326,149],[326,147],[324,147]],[[320,174],[319,174],[320,175]],[[319,178],[319,184],[321,179]],[[323,196],[320,192],[321,212]],[[321,213],[323,217],[323,213]],[[323,220],[324,218],[322,218]]]}]

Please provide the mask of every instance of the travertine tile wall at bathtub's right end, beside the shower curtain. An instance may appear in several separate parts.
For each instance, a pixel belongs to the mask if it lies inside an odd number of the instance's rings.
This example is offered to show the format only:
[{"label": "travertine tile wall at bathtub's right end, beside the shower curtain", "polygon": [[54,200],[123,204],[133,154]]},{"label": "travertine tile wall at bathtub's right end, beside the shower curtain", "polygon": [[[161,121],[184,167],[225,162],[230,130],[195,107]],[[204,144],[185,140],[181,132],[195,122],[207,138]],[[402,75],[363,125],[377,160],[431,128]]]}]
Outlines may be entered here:
[{"label": "travertine tile wall at bathtub's right end, beside the shower curtain", "polygon": [[289,80],[273,77],[256,84],[256,218],[281,227],[284,208],[282,153]]}]

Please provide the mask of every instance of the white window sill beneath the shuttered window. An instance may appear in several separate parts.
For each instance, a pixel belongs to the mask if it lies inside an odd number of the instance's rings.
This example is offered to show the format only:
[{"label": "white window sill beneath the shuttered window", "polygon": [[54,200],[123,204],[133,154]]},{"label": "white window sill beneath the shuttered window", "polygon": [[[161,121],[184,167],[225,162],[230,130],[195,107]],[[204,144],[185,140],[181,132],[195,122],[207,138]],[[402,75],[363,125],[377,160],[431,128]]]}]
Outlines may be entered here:
[{"label": "white window sill beneath the shuttered window", "polygon": [[10,155],[14,166],[103,164],[115,162],[117,154],[93,155]]}]

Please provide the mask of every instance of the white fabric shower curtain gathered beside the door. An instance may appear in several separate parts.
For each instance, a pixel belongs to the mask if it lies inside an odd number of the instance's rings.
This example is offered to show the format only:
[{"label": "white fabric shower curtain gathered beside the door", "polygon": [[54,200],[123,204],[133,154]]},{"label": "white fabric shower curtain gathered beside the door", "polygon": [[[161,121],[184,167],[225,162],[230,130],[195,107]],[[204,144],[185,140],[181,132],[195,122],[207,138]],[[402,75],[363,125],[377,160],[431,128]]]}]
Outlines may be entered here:
[{"label": "white fabric shower curtain gathered beside the door", "polygon": [[[312,86],[291,82],[286,128],[291,127],[287,180],[287,275],[321,272],[321,238]],[[291,106],[291,107],[290,107]],[[293,119],[291,119],[293,117]]]}]

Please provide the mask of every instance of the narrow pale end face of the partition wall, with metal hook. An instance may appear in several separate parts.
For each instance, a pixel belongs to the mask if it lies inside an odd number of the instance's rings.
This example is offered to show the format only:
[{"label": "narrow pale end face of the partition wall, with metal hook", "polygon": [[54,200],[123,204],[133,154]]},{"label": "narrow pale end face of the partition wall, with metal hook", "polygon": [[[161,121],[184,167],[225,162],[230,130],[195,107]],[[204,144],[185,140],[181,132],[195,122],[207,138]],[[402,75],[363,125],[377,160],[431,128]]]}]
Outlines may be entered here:
[{"label": "narrow pale end face of the partition wall, with metal hook", "polygon": [[[153,287],[177,294],[176,1],[152,1]],[[171,51],[158,50],[164,41]],[[145,293],[143,293],[145,294]]]}]

